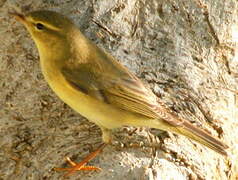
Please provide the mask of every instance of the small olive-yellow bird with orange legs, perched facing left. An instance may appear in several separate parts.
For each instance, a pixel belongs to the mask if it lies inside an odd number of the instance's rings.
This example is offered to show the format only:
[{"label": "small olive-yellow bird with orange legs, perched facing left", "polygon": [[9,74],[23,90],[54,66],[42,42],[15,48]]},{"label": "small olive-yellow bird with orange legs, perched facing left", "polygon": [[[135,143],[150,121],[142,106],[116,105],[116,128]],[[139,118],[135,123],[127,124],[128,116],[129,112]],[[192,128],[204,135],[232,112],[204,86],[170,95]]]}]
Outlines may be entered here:
[{"label": "small olive-yellow bird with orange legs, perched facing left", "polygon": [[85,164],[111,143],[111,131],[123,126],[169,131],[227,155],[225,143],[173,113],[142,80],[85,37],[68,17],[50,10],[11,14],[34,40],[50,88],[102,131],[103,144],[95,152],[80,163],[68,158],[72,167],[57,170],[70,175],[98,169]]}]

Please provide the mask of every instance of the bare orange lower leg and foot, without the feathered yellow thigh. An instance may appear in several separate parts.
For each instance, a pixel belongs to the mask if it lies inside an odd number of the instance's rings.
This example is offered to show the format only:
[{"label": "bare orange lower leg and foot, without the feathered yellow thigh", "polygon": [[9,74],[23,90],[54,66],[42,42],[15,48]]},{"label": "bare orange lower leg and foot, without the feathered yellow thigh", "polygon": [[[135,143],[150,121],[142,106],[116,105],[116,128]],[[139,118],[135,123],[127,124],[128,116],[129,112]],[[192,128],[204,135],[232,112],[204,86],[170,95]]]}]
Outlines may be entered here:
[{"label": "bare orange lower leg and foot, without the feathered yellow thigh", "polygon": [[98,167],[94,167],[94,166],[85,166],[85,164],[87,162],[89,162],[90,160],[92,160],[93,158],[95,158],[102,150],[103,148],[106,146],[105,143],[103,143],[102,145],[99,146],[99,148],[90,153],[84,160],[82,160],[80,163],[75,163],[73,162],[69,157],[66,158],[67,162],[72,166],[70,168],[54,168],[54,170],[56,171],[68,171],[64,176],[69,176],[72,173],[74,173],[75,171],[81,171],[81,170],[101,170]]}]

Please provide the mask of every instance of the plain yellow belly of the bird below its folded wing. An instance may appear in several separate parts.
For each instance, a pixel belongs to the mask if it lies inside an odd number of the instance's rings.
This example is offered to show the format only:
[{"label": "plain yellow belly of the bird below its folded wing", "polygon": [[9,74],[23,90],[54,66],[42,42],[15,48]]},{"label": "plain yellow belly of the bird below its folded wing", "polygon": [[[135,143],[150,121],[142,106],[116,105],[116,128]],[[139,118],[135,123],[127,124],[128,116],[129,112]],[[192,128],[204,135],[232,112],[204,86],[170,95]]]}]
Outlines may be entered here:
[{"label": "plain yellow belly of the bird below its folded wing", "polygon": [[61,100],[98,126],[108,129],[118,128],[126,125],[126,120],[135,116],[133,113],[115,108],[72,87],[60,72],[54,72],[53,75],[43,74]]}]

